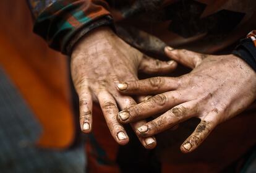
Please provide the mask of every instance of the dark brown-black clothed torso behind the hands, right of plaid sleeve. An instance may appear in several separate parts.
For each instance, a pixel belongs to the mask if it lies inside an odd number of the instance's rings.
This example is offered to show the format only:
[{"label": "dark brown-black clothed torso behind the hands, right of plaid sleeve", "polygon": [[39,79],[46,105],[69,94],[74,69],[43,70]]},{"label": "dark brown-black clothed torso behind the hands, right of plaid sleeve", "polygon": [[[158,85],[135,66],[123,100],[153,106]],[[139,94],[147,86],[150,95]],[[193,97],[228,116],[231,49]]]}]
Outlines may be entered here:
[{"label": "dark brown-black clothed torso behind the hands, right of plaid sleeve", "polygon": [[226,48],[255,29],[254,0],[122,0],[109,4],[114,20],[123,28],[134,27],[175,48],[202,53]]}]

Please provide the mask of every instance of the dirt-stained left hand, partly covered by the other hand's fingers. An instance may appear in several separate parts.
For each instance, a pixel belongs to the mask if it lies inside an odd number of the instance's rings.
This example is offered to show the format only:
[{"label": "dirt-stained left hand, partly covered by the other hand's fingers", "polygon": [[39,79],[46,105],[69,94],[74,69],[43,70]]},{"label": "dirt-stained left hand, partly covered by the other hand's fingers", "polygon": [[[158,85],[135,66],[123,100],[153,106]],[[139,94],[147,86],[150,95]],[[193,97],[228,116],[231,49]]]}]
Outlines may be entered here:
[{"label": "dirt-stained left hand, partly covered by the other hand's fingers", "polygon": [[[82,132],[92,131],[93,101],[100,104],[111,135],[120,145],[129,141],[126,130],[117,121],[119,108],[137,104],[116,88],[117,83],[138,80],[137,72],[164,74],[175,69],[174,61],[162,62],[145,56],[117,37],[107,27],[88,33],[74,48],[71,56],[71,74],[80,101],[80,127]],[[137,129],[145,120],[131,123]],[[154,148],[154,137],[139,137],[145,148]]]}]

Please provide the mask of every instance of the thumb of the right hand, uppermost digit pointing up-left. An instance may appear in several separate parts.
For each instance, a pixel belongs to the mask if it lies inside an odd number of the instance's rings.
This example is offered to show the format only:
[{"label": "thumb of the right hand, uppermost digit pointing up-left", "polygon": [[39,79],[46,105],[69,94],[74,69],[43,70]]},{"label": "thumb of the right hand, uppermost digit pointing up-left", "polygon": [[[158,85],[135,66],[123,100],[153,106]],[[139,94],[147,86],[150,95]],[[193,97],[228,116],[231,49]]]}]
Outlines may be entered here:
[{"label": "thumb of the right hand, uppermost digit pointing up-left", "polygon": [[173,49],[171,47],[164,48],[164,52],[168,57],[175,61],[194,69],[197,65],[201,64],[202,57],[207,56],[200,53],[195,53],[186,49]]}]

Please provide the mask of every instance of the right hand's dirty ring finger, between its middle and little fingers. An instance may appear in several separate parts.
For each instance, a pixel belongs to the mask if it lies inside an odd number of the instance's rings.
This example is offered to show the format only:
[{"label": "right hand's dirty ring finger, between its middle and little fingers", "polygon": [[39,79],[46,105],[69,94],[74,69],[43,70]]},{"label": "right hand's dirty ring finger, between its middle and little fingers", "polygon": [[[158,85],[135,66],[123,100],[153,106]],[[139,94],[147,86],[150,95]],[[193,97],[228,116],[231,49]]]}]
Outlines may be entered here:
[{"label": "right hand's dirty ring finger, between its middle and little fingers", "polygon": [[137,133],[140,136],[148,137],[164,130],[171,129],[175,125],[183,122],[197,114],[197,102],[189,101],[172,108],[165,112],[160,117],[151,120],[145,125],[142,125],[137,129]]}]

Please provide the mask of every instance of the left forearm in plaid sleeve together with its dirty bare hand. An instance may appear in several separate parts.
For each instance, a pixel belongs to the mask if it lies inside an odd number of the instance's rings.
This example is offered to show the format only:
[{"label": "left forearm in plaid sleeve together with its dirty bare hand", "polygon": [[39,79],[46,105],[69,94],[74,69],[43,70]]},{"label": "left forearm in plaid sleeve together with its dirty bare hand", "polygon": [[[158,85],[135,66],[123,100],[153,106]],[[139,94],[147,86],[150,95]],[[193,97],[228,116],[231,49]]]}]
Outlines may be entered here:
[{"label": "left forearm in plaid sleeve together with its dirty bare hand", "polygon": [[[113,22],[105,1],[32,1],[35,14],[34,32],[42,36],[51,48],[71,56],[71,74],[80,101],[80,128],[92,131],[92,105],[99,103],[114,140],[121,145],[129,141],[116,114],[135,104],[130,96],[118,93],[116,83],[136,80],[137,71],[148,74],[170,72],[176,62],[152,59],[103,25]],[[37,2],[37,3],[36,3]],[[32,4],[33,5],[33,4]],[[38,7],[38,8],[37,8]],[[41,7],[41,8],[40,8]],[[132,123],[133,129],[145,120]],[[139,137],[145,148],[154,148],[153,137]]]}]

